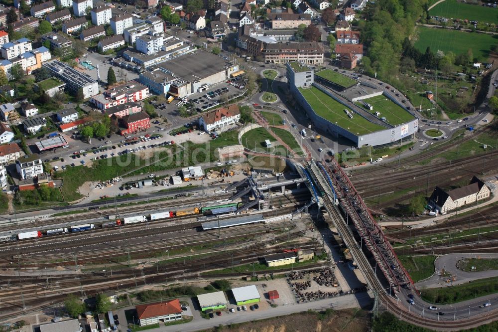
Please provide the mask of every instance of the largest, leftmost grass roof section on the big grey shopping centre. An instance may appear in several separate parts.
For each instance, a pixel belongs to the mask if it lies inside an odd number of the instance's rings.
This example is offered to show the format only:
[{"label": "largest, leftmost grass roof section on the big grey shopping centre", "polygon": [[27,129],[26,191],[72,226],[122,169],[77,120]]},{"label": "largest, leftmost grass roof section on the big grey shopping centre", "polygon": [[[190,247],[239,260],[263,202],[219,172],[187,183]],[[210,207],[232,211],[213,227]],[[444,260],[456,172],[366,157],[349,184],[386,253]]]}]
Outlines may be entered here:
[{"label": "largest, leftmost grass roof section on the big grey shopping centre", "polygon": [[345,107],[343,104],[328,96],[326,93],[318,90],[314,86],[309,89],[299,88],[299,91],[302,93],[304,98],[306,98],[306,101],[311,105],[316,114],[325,120],[336,123],[338,126],[347,129],[351,133],[364,135],[386,129],[385,127],[376,125],[359,115],[354,115],[353,119],[350,119],[344,110],[347,109],[354,114],[353,110]]}]

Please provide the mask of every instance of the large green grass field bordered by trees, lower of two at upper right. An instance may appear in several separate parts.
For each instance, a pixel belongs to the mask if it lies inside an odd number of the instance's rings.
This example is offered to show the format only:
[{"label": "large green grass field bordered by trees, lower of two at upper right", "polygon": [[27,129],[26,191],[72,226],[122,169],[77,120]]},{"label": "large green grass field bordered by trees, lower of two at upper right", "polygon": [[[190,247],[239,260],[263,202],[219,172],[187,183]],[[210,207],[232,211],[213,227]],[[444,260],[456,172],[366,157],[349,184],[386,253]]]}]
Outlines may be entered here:
[{"label": "large green grass field bordered by trees, lower of two at upper right", "polygon": [[430,46],[433,52],[441,50],[445,53],[452,51],[455,54],[466,53],[471,48],[474,57],[480,61],[485,61],[489,57],[491,46],[498,42],[498,37],[484,33],[428,27],[418,27],[417,32],[415,47],[422,53],[425,53],[427,46]]}]

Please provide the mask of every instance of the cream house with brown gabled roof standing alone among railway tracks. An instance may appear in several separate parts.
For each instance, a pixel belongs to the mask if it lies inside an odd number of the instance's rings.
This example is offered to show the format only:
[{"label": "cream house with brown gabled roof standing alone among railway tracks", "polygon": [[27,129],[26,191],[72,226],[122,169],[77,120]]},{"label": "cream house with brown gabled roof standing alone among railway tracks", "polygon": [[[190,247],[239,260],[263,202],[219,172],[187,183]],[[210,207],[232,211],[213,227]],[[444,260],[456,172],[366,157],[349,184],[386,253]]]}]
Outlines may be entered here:
[{"label": "cream house with brown gabled roof standing alone among railway tracks", "polygon": [[436,187],[429,199],[429,205],[440,213],[445,214],[446,212],[457,209],[463,205],[489,198],[490,195],[491,191],[488,186],[474,176],[472,177],[470,184],[460,188],[444,190],[440,187]]}]

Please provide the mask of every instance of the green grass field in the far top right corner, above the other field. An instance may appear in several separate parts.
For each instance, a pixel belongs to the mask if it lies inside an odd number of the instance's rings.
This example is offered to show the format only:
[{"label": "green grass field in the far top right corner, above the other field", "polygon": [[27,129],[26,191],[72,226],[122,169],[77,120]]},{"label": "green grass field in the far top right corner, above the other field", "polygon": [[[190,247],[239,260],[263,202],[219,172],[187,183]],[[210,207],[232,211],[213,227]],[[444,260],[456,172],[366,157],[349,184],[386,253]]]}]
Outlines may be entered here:
[{"label": "green grass field in the far top right corner, above the other field", "polygon": [[431,16],[468,19],[469,21],[477,20],[486,23],[498,22],[498,9],[458,2],[457,0],[443,1],[432,8],[429,14]]}]

